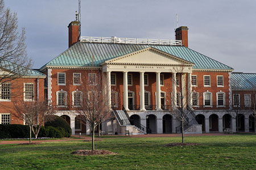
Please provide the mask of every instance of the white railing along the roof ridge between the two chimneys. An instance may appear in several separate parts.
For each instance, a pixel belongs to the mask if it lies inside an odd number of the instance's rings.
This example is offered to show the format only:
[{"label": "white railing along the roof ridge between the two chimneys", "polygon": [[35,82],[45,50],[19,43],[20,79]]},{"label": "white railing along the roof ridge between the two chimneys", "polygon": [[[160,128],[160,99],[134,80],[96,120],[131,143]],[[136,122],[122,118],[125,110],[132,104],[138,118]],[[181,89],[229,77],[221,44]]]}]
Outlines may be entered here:
[{"label": "white railing along the roof ridge between the two chimneys", "polygon": [[115,36],[113,37],[81,36],[80,42],[114,43],[114,44],[147,44],[147,45],[182,45],[181,40],[117,38]]}]

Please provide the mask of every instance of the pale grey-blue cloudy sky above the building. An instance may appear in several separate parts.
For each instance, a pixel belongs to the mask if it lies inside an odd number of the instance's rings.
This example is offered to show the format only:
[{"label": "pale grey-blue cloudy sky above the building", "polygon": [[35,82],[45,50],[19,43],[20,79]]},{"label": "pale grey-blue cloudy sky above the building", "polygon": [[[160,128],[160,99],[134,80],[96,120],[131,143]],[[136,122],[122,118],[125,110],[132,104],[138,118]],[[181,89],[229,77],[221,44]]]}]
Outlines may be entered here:
[{"label": "pale grey-blue cloudy sky above the building", "polygon": [[[26,30],[28,56],[40,68],[68,48],[78,0],[5,0]],[[176,14],[178,23],[176,23]],[[187,26],[188,47],[235,72],[256,73],[254,0],[81,0],[82,36],[175,39]]]}]

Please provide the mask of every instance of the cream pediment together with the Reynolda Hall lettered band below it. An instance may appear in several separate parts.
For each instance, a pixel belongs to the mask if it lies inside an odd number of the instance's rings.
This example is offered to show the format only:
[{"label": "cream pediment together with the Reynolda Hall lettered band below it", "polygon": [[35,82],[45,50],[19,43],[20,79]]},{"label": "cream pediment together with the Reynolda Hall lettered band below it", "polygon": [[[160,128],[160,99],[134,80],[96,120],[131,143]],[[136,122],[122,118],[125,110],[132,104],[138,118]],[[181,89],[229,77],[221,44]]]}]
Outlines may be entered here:
[{"label": "cream pediment together with the Reynolda Hall lettered band below it", "polygon": [[148,47],[102,63],[103,72],[183,72],[192,73],[193,63]]}]

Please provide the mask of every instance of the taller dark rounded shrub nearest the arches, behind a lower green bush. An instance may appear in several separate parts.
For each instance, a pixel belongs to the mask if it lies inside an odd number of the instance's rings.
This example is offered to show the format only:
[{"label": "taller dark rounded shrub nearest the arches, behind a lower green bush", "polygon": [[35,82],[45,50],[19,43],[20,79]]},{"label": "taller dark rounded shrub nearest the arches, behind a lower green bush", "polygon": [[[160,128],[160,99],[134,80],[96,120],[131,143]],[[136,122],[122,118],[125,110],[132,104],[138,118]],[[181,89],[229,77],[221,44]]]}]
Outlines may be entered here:
[{"label": "taller dark rounded shrub nearest the arches, behind a lower green bush", "polygon": [[62,127],[65,130],[65,136],[69,138],[72,134],[71,127],[68,125],[68,122],[66,122],[63,118],[56,116],[56,118],[53,121],[46,122],[44,124],[45,127],[52,126],[52,127]]}]

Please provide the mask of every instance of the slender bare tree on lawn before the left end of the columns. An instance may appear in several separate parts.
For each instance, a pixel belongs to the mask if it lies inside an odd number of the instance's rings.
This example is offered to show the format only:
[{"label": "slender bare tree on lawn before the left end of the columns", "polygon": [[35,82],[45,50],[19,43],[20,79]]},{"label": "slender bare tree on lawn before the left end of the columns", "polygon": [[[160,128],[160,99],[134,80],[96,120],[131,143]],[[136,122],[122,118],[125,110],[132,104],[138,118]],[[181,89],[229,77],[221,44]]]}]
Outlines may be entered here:
[{"label": "slender bare tree on lawn before the left end of the columns", "polygon": [[88,123],[92,129],[92,150],[96,127],[113,117],[105,88],[106,82],[102,81],[102,74],[97,70],[92,69],[89,76],[84,76],[81,81],[81,103],[76,108],[81,121]]}]

